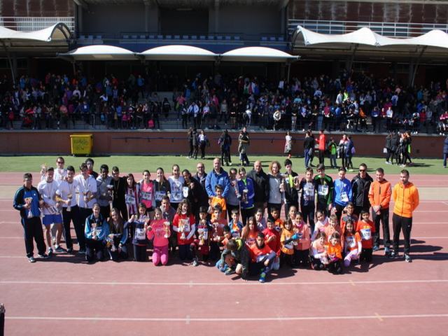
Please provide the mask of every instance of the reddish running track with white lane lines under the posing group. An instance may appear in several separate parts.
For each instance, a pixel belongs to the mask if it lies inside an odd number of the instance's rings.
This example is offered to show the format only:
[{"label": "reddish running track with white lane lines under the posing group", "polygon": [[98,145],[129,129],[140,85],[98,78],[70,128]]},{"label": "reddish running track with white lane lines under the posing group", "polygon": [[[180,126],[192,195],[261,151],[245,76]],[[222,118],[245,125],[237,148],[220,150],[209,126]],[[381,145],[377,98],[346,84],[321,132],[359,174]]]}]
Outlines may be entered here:
[{"label": "reddish running track with white lane lines under the posing group", "polygon": [[[0,174],[18,186],[22,174]],[[448,187],[445,176],[412,176]],[[437,193],[437,189],[435,190]],[[439,195],[440,198],[440,195]],[[73,255],[29,264],[18,212],[0,200],[0,302],[6,335],[446,335],[448,195],[414,214],[414,262],[374,253],[372,265],[335,276],[281,269],[260,284],[175,261],[101,262]],[[74,237],[74,232],[72,231]],[[35,251],[36,253],[36,251]]]}]

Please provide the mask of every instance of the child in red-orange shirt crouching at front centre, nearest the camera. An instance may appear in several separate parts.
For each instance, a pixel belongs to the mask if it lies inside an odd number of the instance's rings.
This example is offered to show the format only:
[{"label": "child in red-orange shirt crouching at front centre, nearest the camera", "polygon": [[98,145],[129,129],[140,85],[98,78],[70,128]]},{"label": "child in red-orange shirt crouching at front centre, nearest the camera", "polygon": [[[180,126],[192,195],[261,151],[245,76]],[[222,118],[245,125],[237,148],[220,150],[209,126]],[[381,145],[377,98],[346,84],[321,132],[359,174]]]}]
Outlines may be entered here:
[{"label": "child in red-orange shirt crouching at front centre, nearest the camera", "polygon": [[253,244],[250,248],[251,252],[251,273],[260,272],[260,281],[264,283],[266,281],[267,273],[274,266],[274,260],[276,259],[276,253],[272,251],[272,249],[265,244],[265,235],[262,232],[258,232],[257,239],[255,240],[255,244]]}]

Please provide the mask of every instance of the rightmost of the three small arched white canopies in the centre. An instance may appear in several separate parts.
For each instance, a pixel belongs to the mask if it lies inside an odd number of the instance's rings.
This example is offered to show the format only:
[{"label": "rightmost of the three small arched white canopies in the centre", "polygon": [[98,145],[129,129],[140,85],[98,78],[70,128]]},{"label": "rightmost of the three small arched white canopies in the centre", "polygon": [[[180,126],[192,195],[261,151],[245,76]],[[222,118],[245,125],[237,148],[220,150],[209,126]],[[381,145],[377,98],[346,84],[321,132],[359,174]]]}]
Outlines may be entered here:
[{"label": "rightmost of the three small arched white canopies in the centre", "polygon": [[245,47],[224,52],[223,61],[252,61],[252,62],[286,62],[297,60],[297,56],[267,47]]}]

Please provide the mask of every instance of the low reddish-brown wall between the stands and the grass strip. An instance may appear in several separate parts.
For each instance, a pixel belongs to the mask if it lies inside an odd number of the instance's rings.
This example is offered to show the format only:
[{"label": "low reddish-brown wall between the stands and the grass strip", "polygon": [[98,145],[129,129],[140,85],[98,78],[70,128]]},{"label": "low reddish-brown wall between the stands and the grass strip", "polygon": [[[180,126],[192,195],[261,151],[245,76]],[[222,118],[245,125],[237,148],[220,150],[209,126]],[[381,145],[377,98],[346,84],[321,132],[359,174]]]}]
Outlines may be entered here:
[{"label": "low reddish-brown wall between the stands and the grass strip", "polygon": [[[220,153],[218,138],[222,131],[206,131],[211,146],[207,155]],[[20,131],[0,132],[1,155],[24,154],[60,154],[69,155],[71,134],[93,134],[93,154],[188,154],[186,131]],[[232,154],[237,153],[237,132],[231,132],[233,139]],[[294,133],[293,155],[303,155],[304,134]],[[251,154],[283,155],[285,133],[250,132]],[[341,134],[332,134],[339,141]],[[353,134],[356,155],[379,157],[383,155],[385,134]],[[412,156],[416,158],[440,158],[442,156],[443,137],[416,135],[412,137]]]}]

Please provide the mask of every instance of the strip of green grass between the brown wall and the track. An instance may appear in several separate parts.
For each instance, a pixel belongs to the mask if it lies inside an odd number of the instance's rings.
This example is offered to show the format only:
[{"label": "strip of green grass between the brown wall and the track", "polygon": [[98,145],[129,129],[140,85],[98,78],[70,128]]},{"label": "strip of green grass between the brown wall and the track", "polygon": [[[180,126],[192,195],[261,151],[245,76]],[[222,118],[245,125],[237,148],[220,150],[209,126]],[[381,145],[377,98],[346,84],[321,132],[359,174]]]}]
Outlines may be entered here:
[{"label": "strip of green grass between the brown wall and the track", "polygon": [[[54,156],[3,156],[0,157],[0,172],[38,172],[40,166],[45,163],[48,167],[55,167],[56,155]],[[196,171],[196,164],[200,160],[188,159],[185,156],[175,156],[175,155],[160,155],[160,156],[127,156],[127,155],[113,155],[113,156],[102,156],[102,157],[92,157],[95,164],[94,169],[98,172],[99,166],[102,164],[109,165],[109,169],[113,166],[118,166],[122,174],[128,172],[143,172],[144,169],[148,169],[150,172],[155,172],[158,167],[162,167],[165,172],[171,172],[172,165],[174,163],[178,164],[181,169],[190,169],[190,172]],[[214,157],[208,156],[203,160],[205,164],[206,171],[209,172],[212,168],[212,161]],[[254,160],[261,160],[263,167],[267,167],[269,162],[273,160],[278,160],[283,166],[285,160],[284,156],[265,156],[265,155],[249,155],[249,160],[253,162]],[[75,158],[71,156],[65,157],[65,164],[73,165],[76,171],[81,162],[84,162],[85,158]],[[304,170],[304,159],[303,158],[293,158],[293,169],[296,172],[303,172]],[[233,166],[239,165],[239,160],[237,156],[232,157]],[[353,165],[357,168],[357,165],[365,162],[369,171],[373,172],[377,167],[383,167],[386,174],[398,174],[401,167],[396,165],[386,165],[384,159],[380,158],[353,158]],[[318,163],[318,158],[314,158],[314,165]],[[330,160],[325,159],[325,163],[329,164]],[[340,160],[337,160],[340,164]],[[443,169],[442,160],[434,159],[416,159],[414,160],[414,165],[408,167],[411,174],[448,174],[448,169]],[[267,169],[265,169],[266,171]],[[336,172],[336,169],[327,169],[327,172]]]}]

